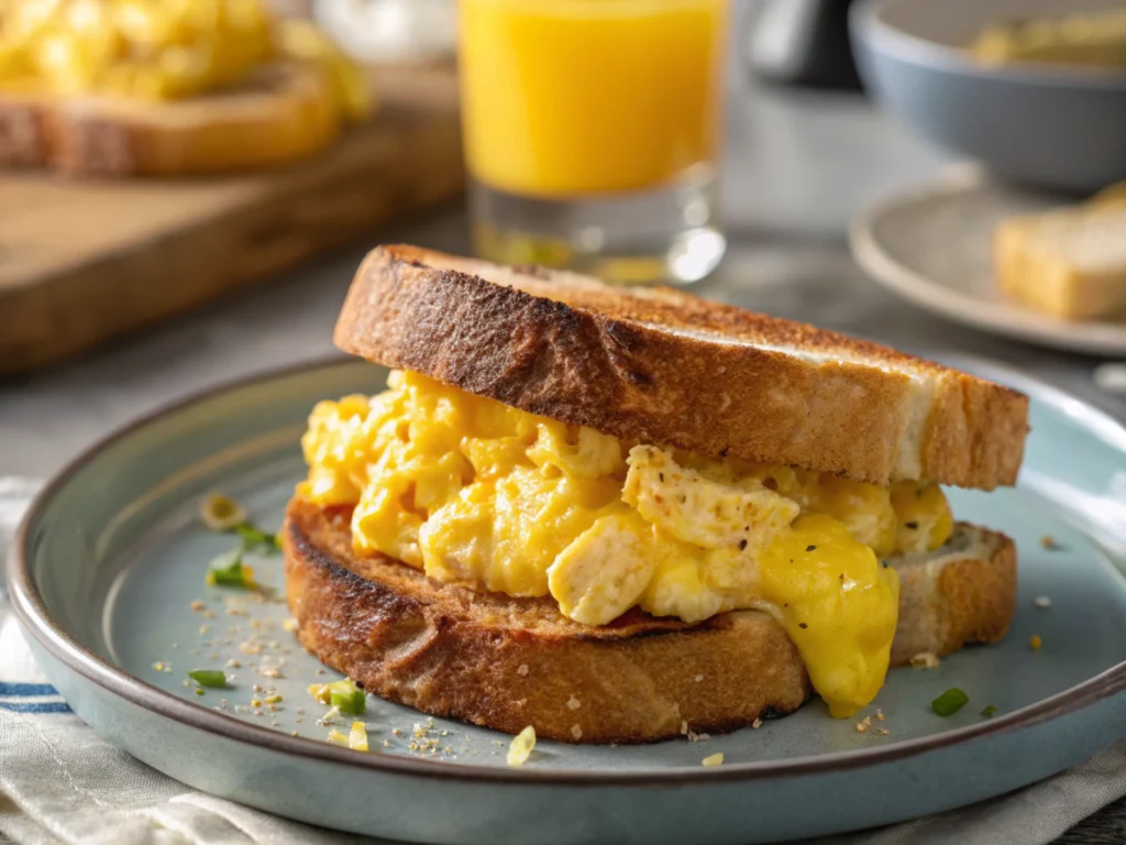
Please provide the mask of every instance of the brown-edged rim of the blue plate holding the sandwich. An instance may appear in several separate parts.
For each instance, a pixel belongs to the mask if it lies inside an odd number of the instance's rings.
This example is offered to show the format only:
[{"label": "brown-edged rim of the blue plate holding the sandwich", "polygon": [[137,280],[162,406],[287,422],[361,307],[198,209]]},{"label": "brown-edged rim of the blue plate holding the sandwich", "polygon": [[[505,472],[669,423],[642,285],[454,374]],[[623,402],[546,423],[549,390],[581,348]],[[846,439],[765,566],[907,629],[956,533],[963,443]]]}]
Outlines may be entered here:
[{"label": "brown-edged rim of the blue plate holding the sandwich", "polygon": [[[1126,446],[1126,426],[1106,411],[1073,397],[1027,373],[978,356],[940,356],[946,361],[966,362],[972,367],[1000,374],[1006,381],[1016,382],[1021,390],[1035,393],[1042,401],[1057,410],[1074,416],[1082,409],[1084,425],[1098,429],[1103,436]],[[656,770],[537,770],[534,767],[491,767],[476,764],[450,764],[443,760],[384,754],[357,754],[328,742],[287,733],[245,722],[233,715],[203,708],[164,692],[120,667],[99,657],[71,637],[47,611],[46,604],[30,572],[30,527],[36,523],[52,499],[91,461],[106,450],[133,436],[138,430],[158,424],[191,407],[218,399],[225,394],[252,389],[272,381],[301,375],[316,370],[340,366],[359,366],[363,362],[340,354],[319,357],[298,364],[271,368],[211,388],[194,391],[179,400],[137,417],[96,441],[56,472],[36,495],[17,528],[15,543],[6,567],[7,584],[15,615],[36,643],[66,669],[82,676],[104,692],[129,704],[150,711],[157,717],[172,719],[187,727],[217,735],[224,739],[243,742],[296,758],[311,758],[334,765],[370,770],[387,775],[408,775],[471,783],[519,783],[525,785],[556,786],[662,786],[739,783],[798,775],[824,775],[855,768],[876,766],[929,751],[962,746],[980,737],[1006,733],[1030,728],[1078,712],[1092,704],[1126,691],[1126,660],[1112,666],[1075,686],[1055,695],[1027,704],[1010,713],[983,722],[955,728],[929,737],[919,737],[892,745],[863,748],[833,754],[806,755],[786,760],[752,760],[716,767],[665,767]],[[992,377],[992,376],[990,376]],[[1126,451],[1126,450],[1124,450]]]}]

